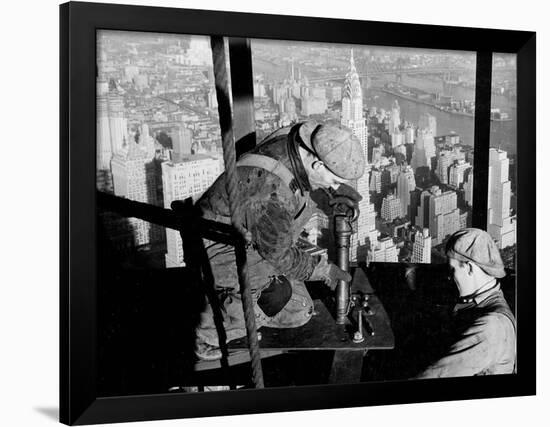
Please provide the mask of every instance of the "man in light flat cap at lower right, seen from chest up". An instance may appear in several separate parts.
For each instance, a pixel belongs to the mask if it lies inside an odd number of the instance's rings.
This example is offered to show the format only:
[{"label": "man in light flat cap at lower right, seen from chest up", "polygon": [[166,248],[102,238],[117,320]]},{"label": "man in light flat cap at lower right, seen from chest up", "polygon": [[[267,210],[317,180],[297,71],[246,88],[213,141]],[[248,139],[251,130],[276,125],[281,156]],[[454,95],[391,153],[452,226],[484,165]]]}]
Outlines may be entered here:
[{"label": "man in light flat cap at lower right, seen from chest up", "polygon": [[516,321],[498,279],[504,264],[491,236],[476,228],[457,231],[446,245],[459,299],[447,353],[417,378],[515,372]]}]

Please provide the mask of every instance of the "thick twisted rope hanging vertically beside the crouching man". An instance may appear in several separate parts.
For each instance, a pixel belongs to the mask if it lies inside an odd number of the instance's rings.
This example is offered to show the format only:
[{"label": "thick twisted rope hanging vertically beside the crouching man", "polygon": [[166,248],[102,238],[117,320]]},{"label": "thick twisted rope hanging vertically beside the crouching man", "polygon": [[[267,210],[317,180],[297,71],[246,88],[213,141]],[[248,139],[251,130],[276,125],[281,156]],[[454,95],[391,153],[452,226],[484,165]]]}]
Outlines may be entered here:
[{"label": "thick twisted rope hanging vertically beside the crouching man", "polygon": [[250,281],[248,280],[248,262],[246,259],[245,246],[246,230],[239,224],[237,217],[237,156],[235,151],[235,137],[233,135],[231,104],[229,102],[229,83],[227,81],[227,69],[225,66],[223,37],[212,36],[210,38],[210,45],[212,47],[212,60],[214,62],[214,79],[216,82],[216,96],[218,99],[218,113],[220,116],[222,133],[223,160],[226,171],[225,186],[229,197],[229,211],[231,212],[231,223],[241,235],[240,241],[235,245],[235,255],[237,258],[237,273],[239,276],[246,334],[248,337],[248,349],[252,365],[252,381],[256,388],[263,388],[264,379],[258,345],[258,333],[256,331],[254,302],[250,291]]}]

